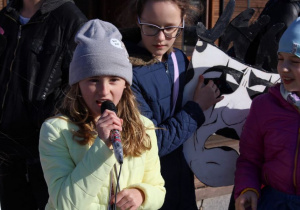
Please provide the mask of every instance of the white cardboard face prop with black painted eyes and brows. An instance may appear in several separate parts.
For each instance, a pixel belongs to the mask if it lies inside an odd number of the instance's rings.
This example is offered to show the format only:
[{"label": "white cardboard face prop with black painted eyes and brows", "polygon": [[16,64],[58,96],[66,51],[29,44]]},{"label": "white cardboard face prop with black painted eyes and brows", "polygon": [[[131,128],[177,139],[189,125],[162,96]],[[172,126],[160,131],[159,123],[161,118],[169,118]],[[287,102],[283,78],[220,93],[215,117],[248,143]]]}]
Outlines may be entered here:
[{"label": "white cardboard face prop with black painted eyes and brows", "polygon": [[[246,65],[213,44],[225,30],[227,24],[224,27],[224,22],[229,23],[233,9],[228,10],[228,7],[232,7],[232,4],[234,6],[234,1],[228,3],[227,14],[220,17],[219,23],[211,31],[204,30],[198,24],[199,40],[187,70],[188,82],[183,94],[183,104],[192,100],[198,78],[203,75],[205,81],[213,80],[224,96],[222,101],[204,112],[204,124],[184,143],[184,155],[190,168],[201,182],[213,187],[234,183],[239,154],[233,148],[225,146],[206,148],[206,141],[212,135],[222,134],[224,131],[225,136],[239,139],[252,99],[280,81],[277,73]],[[220,23],[223,25],[218,25]]]}]

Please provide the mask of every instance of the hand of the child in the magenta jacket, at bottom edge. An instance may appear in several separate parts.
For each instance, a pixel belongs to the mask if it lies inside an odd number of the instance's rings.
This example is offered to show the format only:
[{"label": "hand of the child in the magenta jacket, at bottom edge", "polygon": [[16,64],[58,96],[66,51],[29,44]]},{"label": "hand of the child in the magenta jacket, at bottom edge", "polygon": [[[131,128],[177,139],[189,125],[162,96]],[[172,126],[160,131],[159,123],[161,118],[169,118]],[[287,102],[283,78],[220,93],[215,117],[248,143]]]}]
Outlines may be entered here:
[{"label": "hand of the child in the magenta jacket, at bottom edge", "polygon": [[257,209],[257,194],[252,190],[241,194],[235,201],[236,210],[245,210],[248,207],[251,207],[251,210]]}]

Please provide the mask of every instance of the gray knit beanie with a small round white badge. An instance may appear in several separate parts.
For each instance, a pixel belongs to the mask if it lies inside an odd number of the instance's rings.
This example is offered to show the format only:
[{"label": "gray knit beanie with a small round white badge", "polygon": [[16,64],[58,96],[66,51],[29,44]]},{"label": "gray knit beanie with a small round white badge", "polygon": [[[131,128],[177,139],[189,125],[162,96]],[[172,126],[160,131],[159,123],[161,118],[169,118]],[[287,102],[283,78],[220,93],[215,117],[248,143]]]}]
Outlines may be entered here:
[{"label": "gray knit beanie with a small round white badge", "polygon": [[93,76],[118,76],[132,84],[132,65],[121,41],[122,35],[111,23],[95,19],[77,32],[69,72],[73,85]]}]

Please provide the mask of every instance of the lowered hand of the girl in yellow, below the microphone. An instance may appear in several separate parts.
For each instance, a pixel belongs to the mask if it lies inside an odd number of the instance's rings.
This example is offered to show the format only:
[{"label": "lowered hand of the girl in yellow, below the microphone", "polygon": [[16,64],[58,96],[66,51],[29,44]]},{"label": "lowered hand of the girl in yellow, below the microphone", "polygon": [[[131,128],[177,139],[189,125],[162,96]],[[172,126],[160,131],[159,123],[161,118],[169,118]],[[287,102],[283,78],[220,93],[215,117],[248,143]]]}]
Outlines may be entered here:
[{"label": "lowered hand of the girl in yellow, below the microphone", "polygon": [[117,207],[121,210],[135,210],[144,202],[145,195],[143,191],[133,188],[124,189],[117,194],[117,202],[115,196],[112,196],[111,203],[116,203]]}]

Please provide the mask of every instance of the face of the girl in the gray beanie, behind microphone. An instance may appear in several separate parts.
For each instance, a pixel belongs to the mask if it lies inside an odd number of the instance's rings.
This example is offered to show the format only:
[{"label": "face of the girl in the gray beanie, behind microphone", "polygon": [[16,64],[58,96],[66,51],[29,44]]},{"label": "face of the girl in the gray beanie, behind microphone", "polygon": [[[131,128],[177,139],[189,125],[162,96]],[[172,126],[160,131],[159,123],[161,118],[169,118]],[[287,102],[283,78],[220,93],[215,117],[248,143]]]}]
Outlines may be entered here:
[{"label": "face of the girl in the gray beanie, behind microphone", "polygon": [[125,80],[120,77],[98,76],[81,80],[79,88],[89,111],[97,119],[101,115],[102,102],[111,100],[115,105],[119,103],[125,84]]}]

